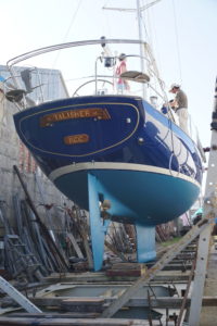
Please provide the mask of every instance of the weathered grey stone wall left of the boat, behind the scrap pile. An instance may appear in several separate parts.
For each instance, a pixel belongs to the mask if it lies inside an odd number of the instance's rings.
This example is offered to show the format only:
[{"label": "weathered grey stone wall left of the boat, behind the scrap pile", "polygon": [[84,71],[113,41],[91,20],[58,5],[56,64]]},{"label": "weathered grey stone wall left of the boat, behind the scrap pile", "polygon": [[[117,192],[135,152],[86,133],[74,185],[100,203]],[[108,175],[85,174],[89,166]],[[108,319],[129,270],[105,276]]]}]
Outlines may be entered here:
[{"label": "weathered grey stone wall left of the boat, behind the scrap pile", "polygon": [[[12,198],[17,193],[20,199],[25,198],[21,183],[13,170],[13,165],[16,165],[41,218],[48,226],[51,224],[53,230],[62,230],[64,212],[61,208],[64,203],[67,206],[72,206],[73,203],[43,175],[28,150],[22,145],[13,122],[13,114],[17,110],[16,105],[5,98],[0,99],[0,200],[5,201],[8,218],[15,226]],[[44,203],[52,204],[52,209],[46,210]],[[0,230],[2,234],[2,225]]]}]

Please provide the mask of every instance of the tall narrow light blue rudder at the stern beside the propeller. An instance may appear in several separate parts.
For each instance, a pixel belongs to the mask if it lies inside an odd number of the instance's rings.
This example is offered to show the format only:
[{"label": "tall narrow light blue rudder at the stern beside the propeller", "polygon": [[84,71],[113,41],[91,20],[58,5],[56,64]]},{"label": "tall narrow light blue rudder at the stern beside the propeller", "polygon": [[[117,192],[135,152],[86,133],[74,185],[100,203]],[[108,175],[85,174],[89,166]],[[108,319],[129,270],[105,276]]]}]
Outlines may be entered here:
[{"label": "tall narrow light blue rudder at the stern beside the propeller", "polygon": [[100,180],[88,173],[88,197],[90,214],[90,234],[92,242],[94,271],[102,268],[104,255],[104,237],[110,225],[110,220],[101,217],[100,199],[103,197],[103,187]]}]

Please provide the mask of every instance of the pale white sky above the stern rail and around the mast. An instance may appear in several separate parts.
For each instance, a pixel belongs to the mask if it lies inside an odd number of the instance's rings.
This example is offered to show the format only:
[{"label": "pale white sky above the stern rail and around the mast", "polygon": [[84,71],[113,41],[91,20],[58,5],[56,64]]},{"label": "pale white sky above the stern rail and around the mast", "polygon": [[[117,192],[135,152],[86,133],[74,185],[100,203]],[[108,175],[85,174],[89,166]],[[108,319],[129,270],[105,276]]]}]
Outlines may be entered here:
[{"label": "pale white sky above the stern rail and around the mast", "polygon": [[[135,0],[0,0],[0,64],[66,41],[102,35],[138,38],[135,13],[102,10],[103,5],[136,8]],[[144,14],[161,77],[167,89],[173,83],[182,85],[204,147],[210,141],[217,75],[216,17],[217,0],[162,0]]]}]

